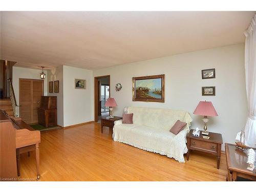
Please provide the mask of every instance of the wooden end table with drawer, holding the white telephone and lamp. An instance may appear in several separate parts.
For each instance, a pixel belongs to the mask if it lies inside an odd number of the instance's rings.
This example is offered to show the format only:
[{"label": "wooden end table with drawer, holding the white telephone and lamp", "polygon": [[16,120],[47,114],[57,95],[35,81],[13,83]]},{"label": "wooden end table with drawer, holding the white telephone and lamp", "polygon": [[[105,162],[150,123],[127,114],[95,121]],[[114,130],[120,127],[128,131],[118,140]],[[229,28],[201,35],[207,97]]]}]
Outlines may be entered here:
[{"label": "wooden end table with drawer, holding the white telephone and lamp", "polygon": [[221,144],[222,144],[222,135],[219,133],[209,132],[209,139],[204,139],[202,136],[202,131],[200,131],[199,137],[193,136],[193,131],[190,130],[187,135],[187,160],[189,159],[189,151],[201,151],[217,156],[217,168],[220,168],[221,160]]}]

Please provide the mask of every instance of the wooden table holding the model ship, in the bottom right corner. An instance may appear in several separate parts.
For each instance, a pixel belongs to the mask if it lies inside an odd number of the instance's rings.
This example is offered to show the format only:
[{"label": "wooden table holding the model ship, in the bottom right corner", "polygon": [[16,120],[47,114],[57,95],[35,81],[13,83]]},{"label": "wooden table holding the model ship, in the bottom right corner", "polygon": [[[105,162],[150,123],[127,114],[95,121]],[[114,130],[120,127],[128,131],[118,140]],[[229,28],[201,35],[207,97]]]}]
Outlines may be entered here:
[{"label": "wooden table holding the model ship, in the bottom right corner", "polygon": [[[256,148],[253,148],[256,152]],[[225,143],[227,159],[227,181],[236,181],[237,177],[242,177],[256,181],[256,168],[248,170],[247,156],[245,152],[239,150],[236,145]]]}]

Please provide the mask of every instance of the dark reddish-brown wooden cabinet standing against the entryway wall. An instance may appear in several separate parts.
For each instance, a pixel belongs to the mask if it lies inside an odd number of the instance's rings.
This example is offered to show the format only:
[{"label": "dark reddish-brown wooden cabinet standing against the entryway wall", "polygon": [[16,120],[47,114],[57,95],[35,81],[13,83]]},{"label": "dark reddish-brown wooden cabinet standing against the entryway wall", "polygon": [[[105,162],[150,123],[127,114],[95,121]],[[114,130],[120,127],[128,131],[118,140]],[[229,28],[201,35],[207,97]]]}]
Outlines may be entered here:
[{"label": "dark reddish-brown wooden cabinet standing against the entryway wall", "polygon": [[45,127],[57,125],[57,97],[41,97],[40,108],[38,108],[38,123]]}]

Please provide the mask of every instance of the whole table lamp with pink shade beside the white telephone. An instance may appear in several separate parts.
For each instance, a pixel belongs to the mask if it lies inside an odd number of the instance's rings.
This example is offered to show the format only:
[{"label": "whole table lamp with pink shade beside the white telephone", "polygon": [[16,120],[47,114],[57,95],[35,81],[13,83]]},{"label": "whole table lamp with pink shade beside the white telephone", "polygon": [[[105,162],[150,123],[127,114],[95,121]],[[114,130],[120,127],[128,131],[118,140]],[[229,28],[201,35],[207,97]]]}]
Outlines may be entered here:
[{"label": "whole table lamp with pink shade beside the white telephone", "polygon": [[193,114],[204,116],[204,118],[202,119],[202,121],[204,122],[204,131],[202,132],[202,134],[209,135],[209,132],[207,132],[207,122],[209,121],[207,116],[218,116],[217,112],[215,111],[214,105],[212,105],[210,101],[200,101]]}]

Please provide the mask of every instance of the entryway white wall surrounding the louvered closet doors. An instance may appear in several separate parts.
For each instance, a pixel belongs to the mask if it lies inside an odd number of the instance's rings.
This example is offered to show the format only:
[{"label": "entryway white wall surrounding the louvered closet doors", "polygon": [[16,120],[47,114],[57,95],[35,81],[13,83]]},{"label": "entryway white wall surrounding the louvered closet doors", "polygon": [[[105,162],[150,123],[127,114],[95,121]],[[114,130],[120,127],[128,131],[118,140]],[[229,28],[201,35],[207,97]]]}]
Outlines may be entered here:
[{"label": "entryway white wall surrounding the louvered closet doors", "polygon": [[[17,105],[19,105],[19,78],[24,79],[41,79],[40,73],[42,70],[36,70],[36,69],[28,69],[28,68],[20,68],[13,66],[12,69],[12,83],[13,83],[13,90],[15,93]],[[46,78],[47,78],[47,71]],[[44,95],[47,95],[48,90],[48,84],[47,80],[44,80]],[[19,109],[17,108],[17,115],[19,116]]]}]

